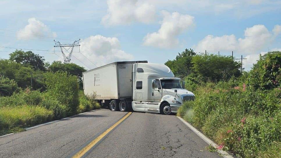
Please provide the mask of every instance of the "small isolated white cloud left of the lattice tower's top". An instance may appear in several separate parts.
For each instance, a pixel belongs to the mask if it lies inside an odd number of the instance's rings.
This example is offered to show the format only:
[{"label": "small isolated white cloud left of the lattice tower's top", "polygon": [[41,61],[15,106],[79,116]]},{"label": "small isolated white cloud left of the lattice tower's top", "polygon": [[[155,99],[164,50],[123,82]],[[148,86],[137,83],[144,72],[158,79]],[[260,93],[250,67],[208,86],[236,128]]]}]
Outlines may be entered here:
[{"label": "small isolated white cloud left of the lattice tower's top", "polygon": [[18,39],[29,39],[29,38],[44,38],[41,36],[56,37],[55,32],[51,32],[50,28],[35,18],[28,19],[28,25],[17,33]]}]

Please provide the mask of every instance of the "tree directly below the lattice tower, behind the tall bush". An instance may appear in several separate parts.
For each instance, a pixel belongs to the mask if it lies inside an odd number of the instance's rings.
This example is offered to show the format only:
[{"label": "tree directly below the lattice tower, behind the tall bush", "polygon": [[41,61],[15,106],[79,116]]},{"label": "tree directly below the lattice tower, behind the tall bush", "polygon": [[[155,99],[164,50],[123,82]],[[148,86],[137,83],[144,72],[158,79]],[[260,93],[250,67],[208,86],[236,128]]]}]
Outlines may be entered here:
[{"label": "tree directly below the lattice tower, behind the tall bush", "polygon": [[70,75],[77,76],[79,79],[79,85],[82,86],[82,72],[86,71],[84,67],[81,67],[74,63],[62,63],[61,61],[54,61],[50,66],[51,72],[66,71]]}]

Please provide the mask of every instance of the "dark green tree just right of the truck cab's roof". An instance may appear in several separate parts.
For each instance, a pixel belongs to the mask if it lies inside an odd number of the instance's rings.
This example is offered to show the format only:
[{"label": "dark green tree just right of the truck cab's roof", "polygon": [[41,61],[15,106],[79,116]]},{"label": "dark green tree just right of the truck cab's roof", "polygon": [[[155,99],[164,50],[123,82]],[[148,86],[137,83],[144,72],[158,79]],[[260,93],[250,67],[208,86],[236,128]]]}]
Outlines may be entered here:
[{"label": "dark green tree just right of the truck cab's roof", "polygon": [[183,78],[192,73],[191,60],[195,55],[193,49],[185,49],[182,53],[178,53],[175,60],[168,60],[165,65],[170,67],[175,76]]}]

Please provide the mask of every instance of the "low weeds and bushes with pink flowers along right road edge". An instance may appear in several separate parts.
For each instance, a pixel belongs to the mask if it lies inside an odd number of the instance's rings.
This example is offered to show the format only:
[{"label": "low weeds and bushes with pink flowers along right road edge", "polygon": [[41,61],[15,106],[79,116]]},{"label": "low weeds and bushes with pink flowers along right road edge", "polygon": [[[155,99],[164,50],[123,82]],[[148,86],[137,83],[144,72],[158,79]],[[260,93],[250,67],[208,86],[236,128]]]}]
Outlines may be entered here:
[{"label": "low weeds and bushes with pink flowers along right road edge", "polygon": [[273,141],[280,142],[281,90],[232,87],[229,82],[198,87],[195,101],[185,102],[177,115],[238,157],[257,157]]}]

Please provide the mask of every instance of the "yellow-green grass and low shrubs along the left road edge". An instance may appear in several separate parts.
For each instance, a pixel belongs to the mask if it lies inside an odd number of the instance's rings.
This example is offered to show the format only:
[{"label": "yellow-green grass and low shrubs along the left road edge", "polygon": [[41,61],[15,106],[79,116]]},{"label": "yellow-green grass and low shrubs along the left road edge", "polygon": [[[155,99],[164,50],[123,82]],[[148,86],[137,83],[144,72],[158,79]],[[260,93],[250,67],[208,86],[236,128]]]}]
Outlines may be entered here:
[{"label": "yellow-green grass and low shrubs along the left road edge", "polygon": [[[79,91],[79,106],[74,114],[99,109],[95,96]],[[72,99],[73,100],[73,99]],[[62,104],[49,91],[26,89],[0,97],[0,135],[24,131],[24,128],[72,116],[72,108]]]}]

